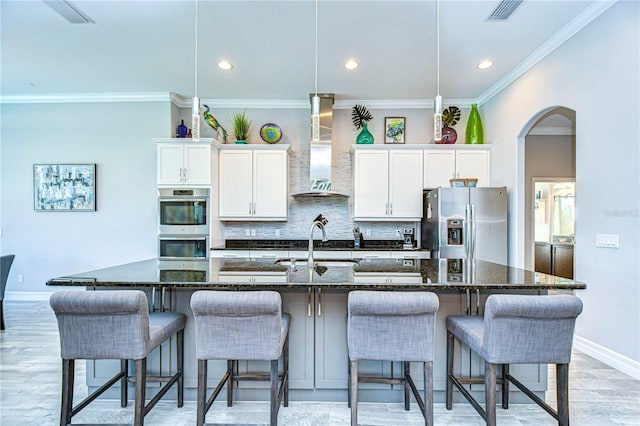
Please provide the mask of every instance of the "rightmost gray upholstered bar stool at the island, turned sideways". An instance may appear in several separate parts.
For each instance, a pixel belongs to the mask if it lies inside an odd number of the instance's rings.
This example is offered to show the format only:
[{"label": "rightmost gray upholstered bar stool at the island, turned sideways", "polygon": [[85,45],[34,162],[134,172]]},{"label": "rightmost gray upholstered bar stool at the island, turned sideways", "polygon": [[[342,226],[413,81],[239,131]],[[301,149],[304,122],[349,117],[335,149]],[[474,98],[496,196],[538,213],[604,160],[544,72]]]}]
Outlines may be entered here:
[{"label": "rightmost gray upholstered bar stool at the island, turned sideways", "polygon": [[[484,319],[477,316],[447,317],[447,409],[451,410],[453,385],[486,421],[496,424],[496,370],[502,366],[502,408],[509,408],[509,382],[551,414],[559,425],[569,425],[569,362],[576,318],[582,302],[575,296],[491,295]],[[485,409],[464,383],[477,379],[453,375],[454,338],[469,346],[485,361]],[[556,364],[558,410],[509,374],[509,364]]]}]

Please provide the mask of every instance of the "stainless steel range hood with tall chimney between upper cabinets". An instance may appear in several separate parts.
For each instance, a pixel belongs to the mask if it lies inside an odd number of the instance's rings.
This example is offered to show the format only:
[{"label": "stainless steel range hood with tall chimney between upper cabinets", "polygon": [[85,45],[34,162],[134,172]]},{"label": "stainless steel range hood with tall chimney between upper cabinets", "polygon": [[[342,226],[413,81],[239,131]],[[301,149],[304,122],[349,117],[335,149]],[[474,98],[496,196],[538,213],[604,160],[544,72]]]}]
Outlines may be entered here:
[{"label": "stainless steel range hood with tall chimney between upper cabinets", "polygon": [[[313,95],[310,95],[310,97]],[[331,190],[331,137],[333,127],[333,94],[318,94],[320,97],[320,138],[310,143],[309,189],[291,194],[303,197],[349,197]]]}]

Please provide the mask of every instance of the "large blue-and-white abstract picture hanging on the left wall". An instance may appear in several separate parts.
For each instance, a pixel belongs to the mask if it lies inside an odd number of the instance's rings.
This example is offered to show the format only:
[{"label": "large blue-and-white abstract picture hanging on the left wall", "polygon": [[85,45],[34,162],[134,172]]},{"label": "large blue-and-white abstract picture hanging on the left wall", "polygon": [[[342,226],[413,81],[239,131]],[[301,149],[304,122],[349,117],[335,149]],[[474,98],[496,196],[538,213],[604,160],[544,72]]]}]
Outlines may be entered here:
[{"label": "large blue-and-white abstract picture hanging on the left wall", "polygon": [[96,210],[95,164],[34,164],[35,211]]}]

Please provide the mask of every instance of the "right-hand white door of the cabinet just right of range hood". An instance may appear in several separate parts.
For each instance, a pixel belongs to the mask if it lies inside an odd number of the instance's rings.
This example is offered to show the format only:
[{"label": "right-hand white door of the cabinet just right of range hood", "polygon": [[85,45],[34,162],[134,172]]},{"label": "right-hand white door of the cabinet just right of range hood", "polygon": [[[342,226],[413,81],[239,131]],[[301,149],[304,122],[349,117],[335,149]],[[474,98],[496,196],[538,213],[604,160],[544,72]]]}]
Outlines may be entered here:
[{"label": "right-hand white door of the cabinet just right of range hood", "polygon": [[389,151],[389,216],[422,217],[422,151]]}]

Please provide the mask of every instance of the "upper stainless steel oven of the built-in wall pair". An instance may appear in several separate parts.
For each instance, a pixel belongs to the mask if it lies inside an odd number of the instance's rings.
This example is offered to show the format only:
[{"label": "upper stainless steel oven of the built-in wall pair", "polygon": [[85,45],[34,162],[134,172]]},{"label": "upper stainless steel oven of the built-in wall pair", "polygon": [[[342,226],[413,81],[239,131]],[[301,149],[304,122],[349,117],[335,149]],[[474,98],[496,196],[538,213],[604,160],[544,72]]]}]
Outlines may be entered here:
[{"label": "upper stainless steel oven of the built-in wall pair", "polygon": [[159,188],[158,234],[208,235],[208,188]]}]

